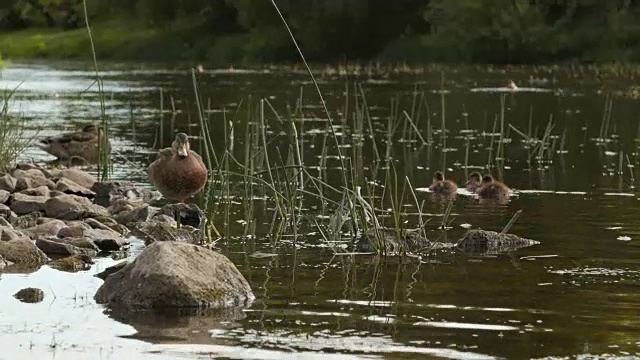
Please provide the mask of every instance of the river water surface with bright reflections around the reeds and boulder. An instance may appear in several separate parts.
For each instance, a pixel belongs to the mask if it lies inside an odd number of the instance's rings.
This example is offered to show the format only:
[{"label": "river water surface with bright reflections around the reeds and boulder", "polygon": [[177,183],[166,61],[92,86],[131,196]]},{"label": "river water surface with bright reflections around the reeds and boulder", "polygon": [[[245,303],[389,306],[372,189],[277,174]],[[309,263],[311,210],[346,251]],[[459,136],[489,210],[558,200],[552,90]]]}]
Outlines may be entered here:
[{"label": "river water surface with bright reflections around the reeds and boulder", "polygon": [[[511,231],[538,240],[539,245],[482,256],[446,253],[377,260],[368,255],[337,256],[312,228],[304,229],[301,240],[285,237],[273,246],[267,238],[272,205],[264,194],[255,194],[254,199],[256,237],[240,237],[244,215],[237,205],[242,201],[239,194],[228,241],[219,245],[254,289],[257,300],[250,309],[189,315],[107,311],[92,299],[101,284],[92,275],[113,264],[109,258],[75,274],[46,266],[28,275],[4,273],[0,274],[0,358],[6,354],[100,359],[637,356],[640,205],[634,183],[640,177],[636,170],[640,105],[616,99],[613,120],[604,130],[605,95],[595,77],[576,81],[559,71],[548,75],[555,79],[553,87],[543,86],[548,91],[502,94],[477,91],[504,83],[495,73],[445,75],[444,92],[439,89],[439,72],[360,79],[374,120],[370,130],[375,141],[385,149],[389,99],[399,95],[400,107],[410,109],[418,84],[428,102],[422,111],[431,120],[427,123],[423,117],[416,126],[425,137],[431,136],[434,145],[420,146],[419,139],[398,135],[391,149],[395,170],[421,190],[430,185],[435,170],[444,169],[447,178],[463,184],[469,172],[486,171],[489,163],[494,175],[501,172],[513,190],[508,204],[497,205],[481,204],[460,189],[450,214],[452,229],[445,234],[438,225],[446,203],[433,201],[428,191],[416,191],[417,202],[424,202],[420,212],[433,216],[428,236],[453,242],[467,228],[500,231],[522,209]],[[2,72],[0,89],[22,83],[12,111],[28,119],[29,136],[52,135],[100,119],[92,76],[86,64],[14,65]],[[148,186],[146,167],[156,149],[167,146],[178,130],[199,132],[191,74],[118,66],[102,76],[105,111],[112,125],[113,177]],[[509,74],[518,83],[529,76],[523,69]],[[319,78],[334,130],[340,137],[351,136],[351,125],[338,120],[345,111],[345,78]],[[329,177],[340,176],[335,154],[322,153],[326,116],[304,73],[221,69],[198,74],[198,80],[219,149],[225,119],[229,121],[249,93],[270,99],[284,113],[287,104],[295,104],[302,86],[304,121],[296,122],[303,160],[315,174],[324,159]],[[611,86],[624,87],[625,81],[611,79]],[[441,93],[446,100],[446,143],[440,123]],[[532,139],[542,137],[550,116],[554,127],[549,141],[555,145],[541,152]],[[241,124],[242,119],[235,121]],[[276,119],[268,121],[270,136],[282,133]],[[502,141],[503,166],[498,167],[501,126],[508,139]],[[602,132],[607,141],[593,140]],[[286,141],[286,135],[276,138]],[[374,159],[369,141],[366,169]],[[345,145],[342,149],[350,151]],[[243,151],[241,143],[236,146]],[[202,152],[201,141],[194,140],[193,147]],[[52,160],[36,148],[22,157]],[[310,215],[319,207],[312,200],[305,206]],[[407,204],[403,211],[418,213],[415,204]],[[390,219],[383,221],[390,225]],[[136,244],[131,256],[140,251],[141,244]],[[23,304],[13,298],[28,286],[42,289],[44,301]]]}]

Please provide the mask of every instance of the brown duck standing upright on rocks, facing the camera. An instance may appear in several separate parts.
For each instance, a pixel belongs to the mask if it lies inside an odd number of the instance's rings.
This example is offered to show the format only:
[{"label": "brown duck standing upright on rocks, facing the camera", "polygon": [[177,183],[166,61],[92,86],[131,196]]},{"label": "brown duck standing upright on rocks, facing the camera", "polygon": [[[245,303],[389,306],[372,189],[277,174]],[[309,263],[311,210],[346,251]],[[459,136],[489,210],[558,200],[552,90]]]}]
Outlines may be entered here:
[{"label": "brown duck standing upright on rocks, facing the camera", "polygon": [[207,176],[202,158],[191,151],[185,133],[178,133],[171,147],[160,150],[149,165],[149,181],[162,196],[181,203],[204,188]]}]

